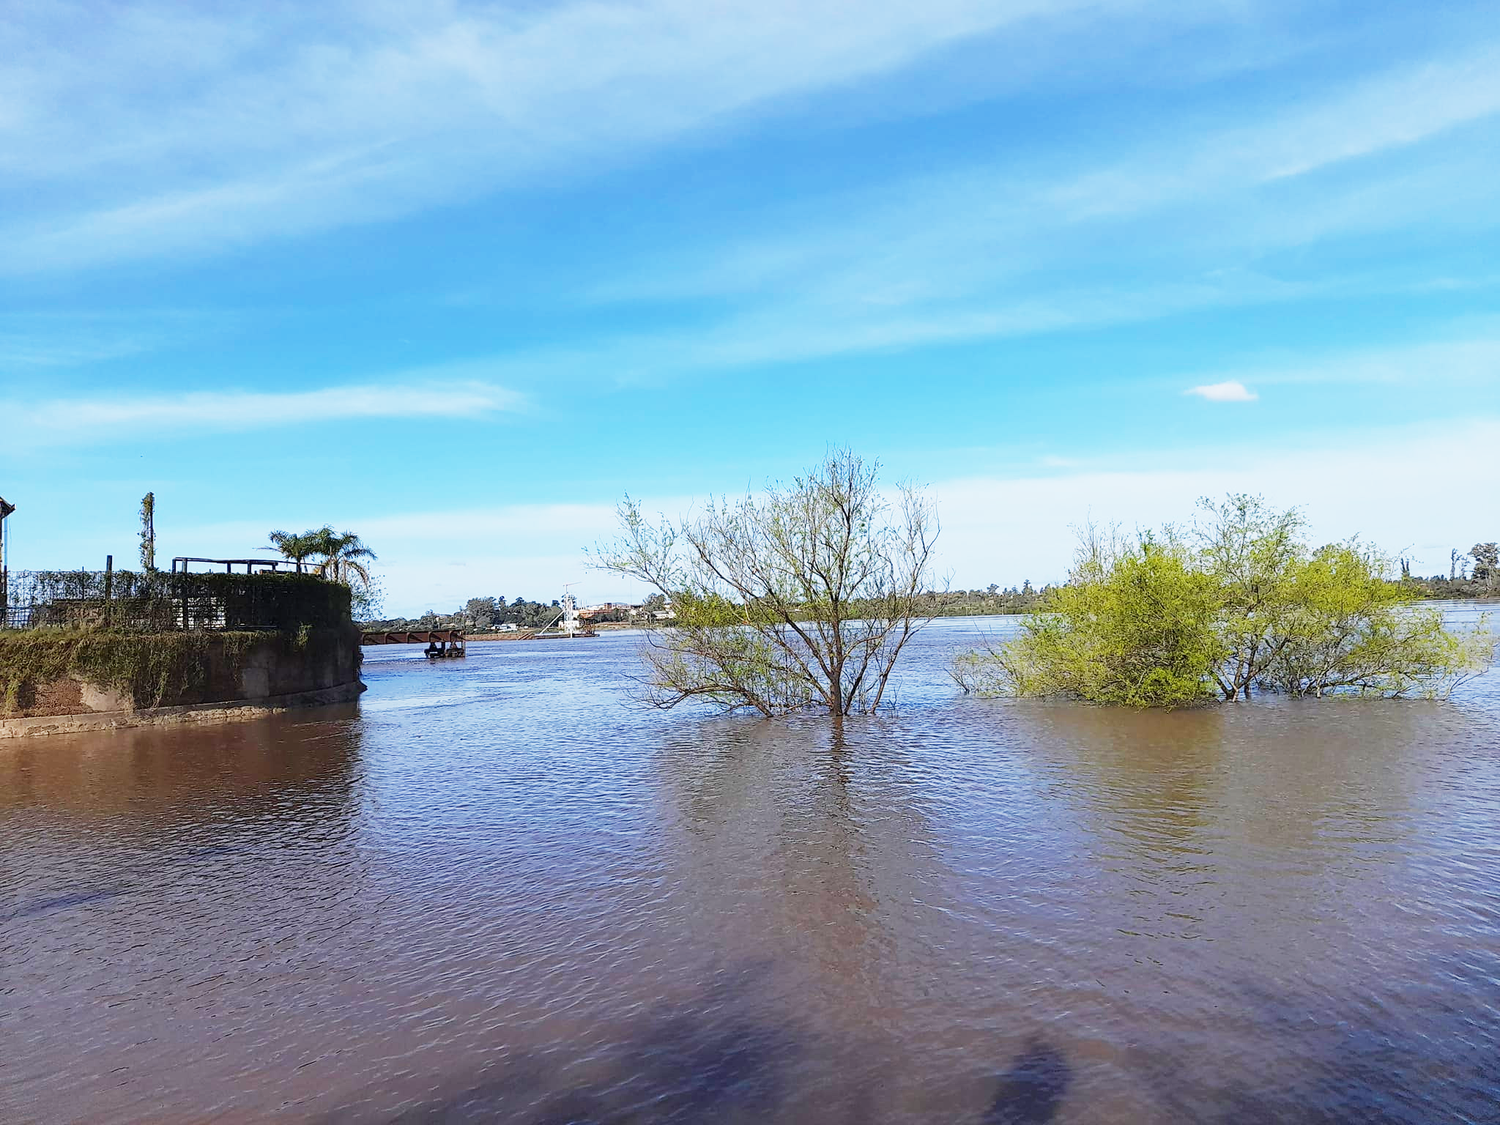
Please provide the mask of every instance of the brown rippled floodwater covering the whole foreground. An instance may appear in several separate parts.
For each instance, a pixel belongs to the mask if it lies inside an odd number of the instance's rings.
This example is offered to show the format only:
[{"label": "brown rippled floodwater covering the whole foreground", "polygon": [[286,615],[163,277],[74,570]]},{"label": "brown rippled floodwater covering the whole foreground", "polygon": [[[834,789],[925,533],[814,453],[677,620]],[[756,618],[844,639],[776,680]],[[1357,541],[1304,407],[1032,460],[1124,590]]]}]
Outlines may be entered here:
[{"label": "brown rippled floodwater covering the whole foreground", "polygon": [[634,705],[638,640],[0,744],[0,1122],[1500,1122],[1500,676]]}]

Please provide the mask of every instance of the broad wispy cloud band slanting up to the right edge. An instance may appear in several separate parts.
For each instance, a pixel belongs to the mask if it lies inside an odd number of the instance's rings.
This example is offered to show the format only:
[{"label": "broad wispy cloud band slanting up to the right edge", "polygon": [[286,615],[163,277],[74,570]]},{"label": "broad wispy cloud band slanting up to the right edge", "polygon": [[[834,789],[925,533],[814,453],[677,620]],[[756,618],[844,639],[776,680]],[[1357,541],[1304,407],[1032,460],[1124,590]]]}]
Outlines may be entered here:
[{"label": "broad wispy cloud band slanting up to the right edge", "polygon": [[[1036,153],[798,200],[746,234],[632,267],[594,300],[729,298],[610,370],[682,368],[1068,332],[1203,309],[1496,284],[1449,261],[1384,268],[1292,248],[1389,230],[1492,230],[1500,198],[1500,45],[1395,64],[1305,98],[1184,112],[1082,156]],[[1246,118],[1251,118],[1246,122]],[[1454,135],[1460,126],[1478,132]],[[1424,142],[1437,148],[1420,148]],[[1416,148],[1413,148],[1416,147]],[[1376,159],[1358,159],[1376,158]],[[1038,166],[1047,168],[1046,174]],[[1338,170],[1317,177],[1318,170]],[[712,308],[712,306],[710,306]],[[1244,380],[1239,380],[1244,381]],[[1254,384],[1251,384],[1254,386]]]}]

